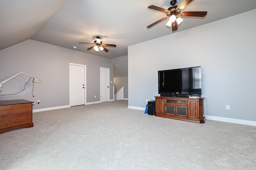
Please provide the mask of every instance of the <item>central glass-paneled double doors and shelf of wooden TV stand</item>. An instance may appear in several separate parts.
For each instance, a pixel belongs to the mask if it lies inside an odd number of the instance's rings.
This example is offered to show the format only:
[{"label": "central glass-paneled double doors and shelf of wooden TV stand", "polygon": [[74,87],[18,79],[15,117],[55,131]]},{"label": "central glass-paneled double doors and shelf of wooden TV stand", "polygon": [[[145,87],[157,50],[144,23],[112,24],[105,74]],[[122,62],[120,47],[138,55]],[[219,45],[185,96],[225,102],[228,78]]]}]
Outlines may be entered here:
[{"label": "central glass-paneled double doors and shelf of wooden TV stand", "polygon": [[168,115],[188,117],[187,100],[166,99],[165,113]]}]

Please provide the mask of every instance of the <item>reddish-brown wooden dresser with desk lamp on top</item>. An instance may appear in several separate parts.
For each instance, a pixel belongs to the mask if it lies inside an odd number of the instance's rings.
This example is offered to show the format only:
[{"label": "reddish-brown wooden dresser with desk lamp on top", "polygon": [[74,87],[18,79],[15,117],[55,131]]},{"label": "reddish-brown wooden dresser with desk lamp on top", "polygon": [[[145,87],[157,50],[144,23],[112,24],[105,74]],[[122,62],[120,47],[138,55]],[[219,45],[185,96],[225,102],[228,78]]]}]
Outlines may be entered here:
[{"label": "reddish-brown wooden dresser with desk lamp on top", "polygon": [[28,100],[0,101],[0,134],[18,128],[33,127],[32,103]]}]

